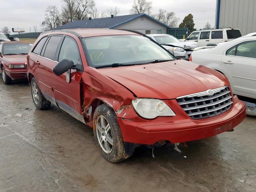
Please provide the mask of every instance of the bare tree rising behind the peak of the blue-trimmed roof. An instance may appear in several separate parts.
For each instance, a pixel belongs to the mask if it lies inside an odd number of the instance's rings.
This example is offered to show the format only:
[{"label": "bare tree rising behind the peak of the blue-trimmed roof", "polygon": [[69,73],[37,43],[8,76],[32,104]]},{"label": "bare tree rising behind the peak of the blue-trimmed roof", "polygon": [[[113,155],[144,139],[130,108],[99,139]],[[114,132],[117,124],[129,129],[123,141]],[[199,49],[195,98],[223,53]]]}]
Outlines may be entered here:
[{"label": "bare tree rising behind the peak of the blue-trimmed roof", "polygon": [[147,0],[133,0],[133,5],[130,14],[146,13],[150,14],[152,9],[152,2]]}]

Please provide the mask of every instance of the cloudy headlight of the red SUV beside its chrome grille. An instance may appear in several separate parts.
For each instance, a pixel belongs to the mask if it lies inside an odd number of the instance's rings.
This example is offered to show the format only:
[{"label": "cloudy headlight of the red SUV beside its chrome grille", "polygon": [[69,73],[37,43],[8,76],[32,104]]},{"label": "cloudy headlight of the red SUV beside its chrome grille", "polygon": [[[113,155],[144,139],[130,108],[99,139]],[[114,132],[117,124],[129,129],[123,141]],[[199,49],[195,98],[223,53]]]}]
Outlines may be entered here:
[{"label": "cloudy headlight of the red SUV beside its chrome grille", "polygon": [[146,119],[176,115],[165,102],[159,99],[134,99],[132,106],[139,116]]}]

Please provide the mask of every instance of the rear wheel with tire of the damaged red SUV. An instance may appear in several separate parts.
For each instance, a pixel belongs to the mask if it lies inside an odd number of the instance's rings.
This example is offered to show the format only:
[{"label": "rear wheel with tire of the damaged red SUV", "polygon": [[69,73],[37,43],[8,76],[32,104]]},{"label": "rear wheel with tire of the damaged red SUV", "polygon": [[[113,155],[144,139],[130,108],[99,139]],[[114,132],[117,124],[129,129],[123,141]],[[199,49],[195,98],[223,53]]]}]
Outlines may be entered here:
[{"label": "rear wheel with tire of the damaged red SUV", "polygon": [[50,108],[51,102],[44,98],[34,77],[31,80],[31,94],[36,108],[39,110]]}]

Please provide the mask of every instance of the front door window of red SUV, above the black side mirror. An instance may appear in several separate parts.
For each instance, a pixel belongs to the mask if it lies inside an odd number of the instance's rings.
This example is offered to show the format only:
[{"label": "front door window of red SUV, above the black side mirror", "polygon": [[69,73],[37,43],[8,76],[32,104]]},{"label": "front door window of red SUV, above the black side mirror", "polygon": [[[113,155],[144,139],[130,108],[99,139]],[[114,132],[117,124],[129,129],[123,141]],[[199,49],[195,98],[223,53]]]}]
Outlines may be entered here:
[{"label": "front door window of red SUV, above the black side mirror", "polygon": [[58,61],[61,61],[62,59],[68,59],[72,61],[74,65],[78,64],[78,61],[81,61],[76,42],[68,37],[65,37],[60,48]]}]

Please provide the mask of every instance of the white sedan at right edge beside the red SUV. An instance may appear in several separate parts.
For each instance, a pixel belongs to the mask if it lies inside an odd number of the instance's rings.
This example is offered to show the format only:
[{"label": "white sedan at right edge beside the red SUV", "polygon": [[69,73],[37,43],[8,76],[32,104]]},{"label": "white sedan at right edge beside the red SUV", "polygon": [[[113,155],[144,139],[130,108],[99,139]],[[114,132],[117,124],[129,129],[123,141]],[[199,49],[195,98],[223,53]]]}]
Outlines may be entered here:
[{"label": "white sedan at right edge beside the red SUV", "polygon": [[256,37],[241,37],[214,48],[194,51],[193,63],[224,74],[234,94],[256,99]]}]

